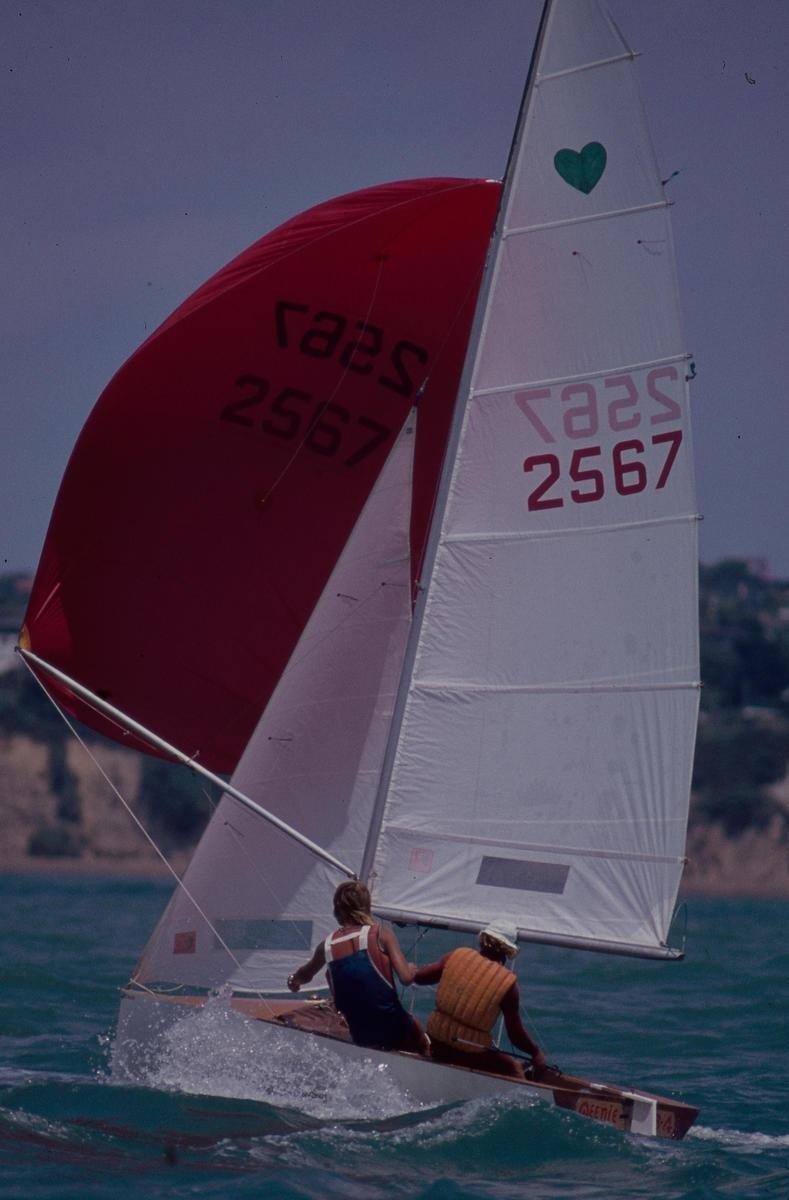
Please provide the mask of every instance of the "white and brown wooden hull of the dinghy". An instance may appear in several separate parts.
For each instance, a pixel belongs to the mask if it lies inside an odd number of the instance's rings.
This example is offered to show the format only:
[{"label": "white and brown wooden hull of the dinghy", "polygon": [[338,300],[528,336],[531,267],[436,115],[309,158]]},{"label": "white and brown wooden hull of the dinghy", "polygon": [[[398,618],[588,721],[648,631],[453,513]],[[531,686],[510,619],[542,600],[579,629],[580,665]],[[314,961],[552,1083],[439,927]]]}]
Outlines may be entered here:
[{"label": "white and brown wooden hull of the dinghy", "polygon": [[[329,1042],[332,1051],[344,1061],[372,1061],[385,1066],[391,1079],[421,1104],[507,1096],[513,1087],[525,1088],[534,1098],[602,1121],[624,1133],[674,1139],[685,1136],[699,1112],[689,1104],[663,1096],[595,1084],[564,1072],[550,1072],[540,1080],[519,1080],[434,1062],[420,1055],[356,1046],[342,1018],[324,1001],[234,996],[228,1003],[251,1022],[276,1027],[297,1043],[308,1034]],[[137,1062],[150,1062],[156,1054],[162,1034],[204,1004],[203,996],[169,996],[138,989],[124,991],[116,1038],[121,1073],[134,1075]]]}]

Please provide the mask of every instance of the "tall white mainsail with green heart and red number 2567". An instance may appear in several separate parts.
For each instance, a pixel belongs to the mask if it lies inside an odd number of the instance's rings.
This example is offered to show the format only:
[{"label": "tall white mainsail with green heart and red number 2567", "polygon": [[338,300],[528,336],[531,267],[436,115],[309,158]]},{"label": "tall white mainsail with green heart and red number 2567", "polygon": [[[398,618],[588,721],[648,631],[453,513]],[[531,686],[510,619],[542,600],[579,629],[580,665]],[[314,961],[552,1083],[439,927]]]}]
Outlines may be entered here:
[{"label": "tall white mainsail with green heart and red number 2567", "polygon": [[687,355],[634,56],[596,0],[543,22],[480,325],[374,905],[661,953],[698,709]]}]

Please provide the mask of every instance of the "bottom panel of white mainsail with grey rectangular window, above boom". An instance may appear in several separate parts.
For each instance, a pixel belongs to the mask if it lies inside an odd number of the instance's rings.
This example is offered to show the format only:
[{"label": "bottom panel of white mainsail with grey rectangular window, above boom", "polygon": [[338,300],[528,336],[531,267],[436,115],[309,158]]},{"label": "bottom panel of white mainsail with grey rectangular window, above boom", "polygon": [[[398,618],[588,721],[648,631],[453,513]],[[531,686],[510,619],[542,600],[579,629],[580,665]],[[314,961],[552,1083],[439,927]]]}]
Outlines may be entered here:
[{"label": "bottom panel of white mainsail with grey rectangular window, above boom", "polygon": [[[429,872],[411,868],[415,856],[432,862]],[[516,858],[502,847],[496,857]],[[460,920],[507,920],[519,929],[564,936],[659,946],[671,919],[681,863],[622,860],[523,853],[528,864],[565,875],[564,888],[507,888],[480,882],[487,850],[474,844],[444,842],[429,834],[392,829],[381,851],[380,876],[374,880],[374,905],[403,912],[433,913]],[[522,877],[523,878],[523,877]]]}]

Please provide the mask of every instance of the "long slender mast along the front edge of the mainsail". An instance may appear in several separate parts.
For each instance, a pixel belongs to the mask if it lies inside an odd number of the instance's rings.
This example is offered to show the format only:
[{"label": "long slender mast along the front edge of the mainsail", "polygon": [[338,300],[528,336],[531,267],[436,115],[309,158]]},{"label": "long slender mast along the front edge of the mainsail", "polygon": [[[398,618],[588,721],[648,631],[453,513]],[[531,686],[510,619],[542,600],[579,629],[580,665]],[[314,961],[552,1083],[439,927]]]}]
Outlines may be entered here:
[{"label": "long slender mast along the front edge of the mainsail", "polygon": [[540,56],[546,40],[546,34],[549,28],[553,5],[554,0],[544,0],[542,13],[540,16],[537,37],[535,40],[534,49],[531,52],[531,60],[529,62],[529,71],[526,74],[526,83],[523,90],[523,97],[520,100],[520,108],[518,109],[518,118],[516,120],[514,133],[512,137],[512,142],[510,144],[510,154],[507,156],[507,166],[505,169],[504,186],[499,200],[499,209],[496,212],[495,224],[493,227],[493,235],[490,238],[490,246],[488,248],[488,257],[486,259],[482,282],[480,284],[477,304],[474,312],[474,322],[471,324],[471,332],[469,334],[469,344],[465,353],[465,361],[463,364],[463,373],[460,376],[460,383],[458,385],[454,412],[452,414],[452,425],[450,426],[446,452],[444,455],[441,478],[436,491],[435,504],[433,506],[433,516],[430,521],[427,547],[424,551],[424,559],[422,563],[421,577],[417,582],[416,602],[414,605],[414,620],[411,624],[409,641],[405,649],[405,658],[403,660],[403,671],[400,673],[400,680],[397,689],[397,697],[394,700],[394,710],[392,714],[392,724],[390,726],[389,740],[386,743],[386,751],[384,755],[384,766],[381,769],[380,784],[375,796],[375,804],[371,818],[369,833],[367,836],[367,844],[365,846],[365,857],[362,858],[362,865],[360,870],[360,878],[363,880],[366,883],[369,882],[369,872],[373,866],[375,848],[378,846],[378,838],[384,820],[384,808],[386,805],[386,796],[389,793],[389,786],[392,778],[392,769],[394,766],[394,756],[397,754],[397,745],[400,737],[400,730],[403,727],[405,703],[408,700],[408,691],[411,682],[411,674],[414,671],[416,650],[418,647],[420,635],[422,631],[422,622],[424,619],[424,607],[427,604],[430,578],[433,575],[433,569],[435,566],[435,557],[438,553],[439,541],[441,536],[441,524],[444,520],[444,512],[446,509],[447,497],[450,493],[450,482],[452,479],[454,456],[457,454],[458,444],[460,440],[460,431],[463,428],[463,420],[465,416],[465,410],[471,391],[471,377],[474,373],[477,348],[480,346],[480,340],[482,337],[482,330],[488,307],[488,296],[490,294],[490,287],[493,283],[493,276],[498,258],[498,250],[501,244],[505,217],[507,212],[507,205],[510,202],[510,193],[512,191],[514,164],[518,161],[518,152],[520,150],[523,131],[525,128],[526,116],[531,104],[531,97],[534,94],[535,80],[537,77],[537,68],[540,64]]}]

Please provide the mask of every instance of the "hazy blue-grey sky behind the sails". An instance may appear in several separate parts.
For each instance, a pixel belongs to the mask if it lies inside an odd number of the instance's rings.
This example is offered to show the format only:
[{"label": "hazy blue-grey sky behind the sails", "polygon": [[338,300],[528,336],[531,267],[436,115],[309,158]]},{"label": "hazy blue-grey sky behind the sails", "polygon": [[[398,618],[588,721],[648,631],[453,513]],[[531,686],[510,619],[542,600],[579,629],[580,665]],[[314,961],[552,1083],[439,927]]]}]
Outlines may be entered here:
[{"label": "hazy blue-grey sky behind the sails", "polygon": [[[701,554],[789,577],[789,0],[612,0],[643,52],[695,355]],[[0,570],[96,397],[288,216],[500,176],[536,0],[0,0]]]}]

